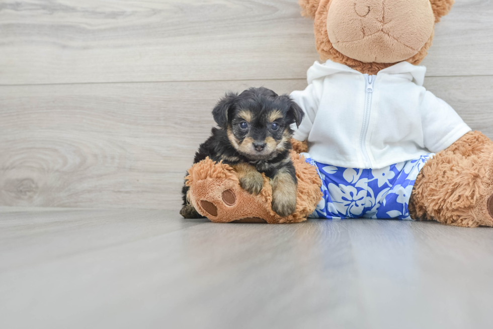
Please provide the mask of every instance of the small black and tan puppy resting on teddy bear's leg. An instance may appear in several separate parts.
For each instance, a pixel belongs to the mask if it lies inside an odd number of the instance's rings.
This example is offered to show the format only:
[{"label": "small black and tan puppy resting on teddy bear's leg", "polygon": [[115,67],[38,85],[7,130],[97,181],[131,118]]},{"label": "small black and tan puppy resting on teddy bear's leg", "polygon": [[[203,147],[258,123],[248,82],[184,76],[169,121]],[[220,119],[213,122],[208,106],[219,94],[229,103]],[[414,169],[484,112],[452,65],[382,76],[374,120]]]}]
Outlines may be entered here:
[{"label": "small black and tan puppy resting on teddy bear's leg", "polygon": [[[272,209],[287,216],[296,208],[297,179],[289,157],[290,125],[298,126],[302,109],[287,95],[279,96],[267,88],[250,88],[239,95],[227,93],[212,110],[219,128],[199,146],[194,163],[206,157],[229,164],[238,173],[242,188],[258,194],[264,186],[261,172],[270,178]],[[201,215],[187,201],[183,187],[185,218]]]}]

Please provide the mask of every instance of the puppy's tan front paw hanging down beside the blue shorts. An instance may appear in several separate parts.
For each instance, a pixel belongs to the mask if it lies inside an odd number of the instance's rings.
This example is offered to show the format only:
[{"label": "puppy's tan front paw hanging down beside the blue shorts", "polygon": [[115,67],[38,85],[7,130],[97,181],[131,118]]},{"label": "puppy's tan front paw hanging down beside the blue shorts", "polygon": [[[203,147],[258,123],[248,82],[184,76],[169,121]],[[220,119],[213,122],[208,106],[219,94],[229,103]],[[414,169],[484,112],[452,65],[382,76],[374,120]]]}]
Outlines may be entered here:
[{"label": "puppy's tan front paw hanging down beside the blue shorts", "polygon": [[280,216],[288,216],[296,210],[297,185],[287,170],[279,170],[271,180],[272,210]]}]

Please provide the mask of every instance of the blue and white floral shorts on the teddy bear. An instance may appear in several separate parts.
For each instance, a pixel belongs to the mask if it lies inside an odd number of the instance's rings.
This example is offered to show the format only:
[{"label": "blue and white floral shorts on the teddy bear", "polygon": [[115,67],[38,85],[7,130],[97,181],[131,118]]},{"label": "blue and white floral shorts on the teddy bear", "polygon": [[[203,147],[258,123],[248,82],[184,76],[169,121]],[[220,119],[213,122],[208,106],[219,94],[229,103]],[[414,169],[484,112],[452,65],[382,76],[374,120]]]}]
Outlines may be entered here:
[{"label": "blue and white floral shorts on the teddy bear", "polygon": [[306,162],[317,168],[322,180],[323,197],[311,218],[398,218],[412,220],[407,205],[414,183],[426,161],[421,157],[381,169],[353,169],[315,162],[301,153]]}]

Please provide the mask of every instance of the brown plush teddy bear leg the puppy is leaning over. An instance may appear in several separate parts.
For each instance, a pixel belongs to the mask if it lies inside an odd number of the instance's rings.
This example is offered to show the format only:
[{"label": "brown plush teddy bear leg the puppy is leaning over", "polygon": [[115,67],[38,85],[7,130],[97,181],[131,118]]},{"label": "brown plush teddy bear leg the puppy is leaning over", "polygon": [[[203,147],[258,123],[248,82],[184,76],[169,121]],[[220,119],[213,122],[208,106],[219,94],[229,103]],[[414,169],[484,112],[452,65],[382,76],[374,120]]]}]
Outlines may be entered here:
[{"label": "brown plush teddy bear leg the puppy is leaning over", "polygon": [[272,188],[270,180],[262,174],[264,186],[260,194],[250,194],[241,188],[237,173],[222,162],[209,158],[192,166],[186,177],[189,198],[197,211],[212,222],[267,222],[297,223],[304,221],[313,212],[322,197],[321,181],[316,169],[300,158],[295,151],[290,153],[298,180],[296,210],[281,217],[272,210]]}]

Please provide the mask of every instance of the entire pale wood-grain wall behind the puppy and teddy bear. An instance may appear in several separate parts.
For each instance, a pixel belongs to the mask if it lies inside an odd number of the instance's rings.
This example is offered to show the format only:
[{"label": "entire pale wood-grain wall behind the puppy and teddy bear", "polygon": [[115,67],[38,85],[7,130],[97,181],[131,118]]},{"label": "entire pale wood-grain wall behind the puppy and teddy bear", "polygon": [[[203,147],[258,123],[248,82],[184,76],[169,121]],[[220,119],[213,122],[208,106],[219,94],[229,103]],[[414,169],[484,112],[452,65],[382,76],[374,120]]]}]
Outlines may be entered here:
[{"label": "entire pale wood-grain wall behind the puppy and teddy bear", "polygon": [[[437,25],[426,87],[493,137],[493,2]],[[0,206],[178,208],[226,90],[306,86],[296,0],[0,3]]]}]

